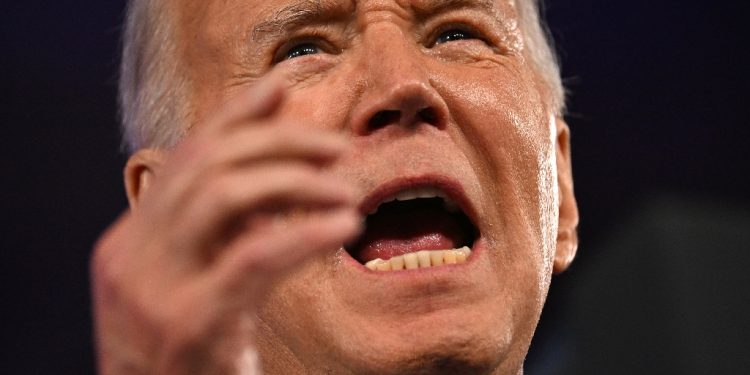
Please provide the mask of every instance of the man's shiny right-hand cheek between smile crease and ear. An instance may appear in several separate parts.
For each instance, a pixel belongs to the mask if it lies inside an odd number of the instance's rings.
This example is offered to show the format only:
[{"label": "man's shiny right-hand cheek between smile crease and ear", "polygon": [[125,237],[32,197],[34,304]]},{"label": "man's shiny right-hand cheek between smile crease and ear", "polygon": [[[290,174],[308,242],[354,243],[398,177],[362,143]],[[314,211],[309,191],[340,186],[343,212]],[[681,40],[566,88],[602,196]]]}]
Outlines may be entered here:
[{"label": "man's shiny right-hand cheek between smile crease and ear", "polygon": [[[517,262],[548,268],[554,194],[549,116],[530,74],[507,67],[449,75],[441,89],[464,137],[463,148],[483,181],[491,237]],[[469,79],[471,78],[471,79]],[[510,241],[509,241],[510,240]],[[526,260],[518,251],[531,251]],[[535,271],[535,272],[537,272]]]}]

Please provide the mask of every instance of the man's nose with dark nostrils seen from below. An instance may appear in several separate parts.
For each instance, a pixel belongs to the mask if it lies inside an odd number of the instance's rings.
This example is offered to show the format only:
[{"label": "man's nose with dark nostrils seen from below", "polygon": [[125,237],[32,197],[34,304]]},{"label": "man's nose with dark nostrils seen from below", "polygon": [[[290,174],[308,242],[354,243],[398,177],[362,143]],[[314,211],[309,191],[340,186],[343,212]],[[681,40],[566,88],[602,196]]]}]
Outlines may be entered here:
[{"label": "man's nose with dark nostrils seen from below", "polygon": [[361,72],[365,89],[352,114],[356,134],[397,126],[445,128],[448,110],[431,84],[424,54],[395,27],[367,30]]}]

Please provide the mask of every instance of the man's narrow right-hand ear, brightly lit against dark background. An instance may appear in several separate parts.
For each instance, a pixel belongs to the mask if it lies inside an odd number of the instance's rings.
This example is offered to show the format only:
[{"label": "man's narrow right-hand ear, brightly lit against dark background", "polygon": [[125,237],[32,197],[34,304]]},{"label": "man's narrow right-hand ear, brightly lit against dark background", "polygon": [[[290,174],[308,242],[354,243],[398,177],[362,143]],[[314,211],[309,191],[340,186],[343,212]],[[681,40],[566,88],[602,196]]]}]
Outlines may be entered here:
[{"label": "man's narrow right-hand ear, brightly lit against dark background", "polygon": [[557,117],[557,184],[558,184],[558,228],[555,250],[554,273],[565,271],[578,250],[578,204],[573,194],[573,168],[570,161],[570,129],[565,120]]}]

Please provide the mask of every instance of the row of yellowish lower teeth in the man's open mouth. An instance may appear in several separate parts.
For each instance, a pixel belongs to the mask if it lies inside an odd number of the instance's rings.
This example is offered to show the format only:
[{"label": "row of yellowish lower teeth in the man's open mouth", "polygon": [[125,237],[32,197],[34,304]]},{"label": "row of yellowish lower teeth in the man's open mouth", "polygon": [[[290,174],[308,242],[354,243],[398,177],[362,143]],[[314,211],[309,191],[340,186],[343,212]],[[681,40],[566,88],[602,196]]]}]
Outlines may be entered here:
[{"label": "row of yellowish lower teeth in the man's open mouth", "polygon": [[420,250],[415,253],[395,256],[388,260],[373,259],[365,263],[365,267],[373,271],[413,270],[466,263],[470,255],[471,249],[468,246],[451,250]]}]

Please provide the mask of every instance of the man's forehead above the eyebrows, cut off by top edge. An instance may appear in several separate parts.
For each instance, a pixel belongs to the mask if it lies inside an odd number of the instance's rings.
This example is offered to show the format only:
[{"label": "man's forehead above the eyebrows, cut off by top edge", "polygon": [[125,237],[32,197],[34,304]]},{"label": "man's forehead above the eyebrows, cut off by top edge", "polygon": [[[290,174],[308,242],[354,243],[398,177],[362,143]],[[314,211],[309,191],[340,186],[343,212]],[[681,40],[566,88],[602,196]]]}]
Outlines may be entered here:
[{"label": "man's forehead above the eyebrows, cut off by top edge", "polygon": [[[390,11],[412,21],[451,10],[474,9],[515,29],[517,0],[172,0],[182,41],[241,48],[291,28]],[[172,8],[174,9],[174,7]],[[218,52],[218,51],[216,51]]]}]

